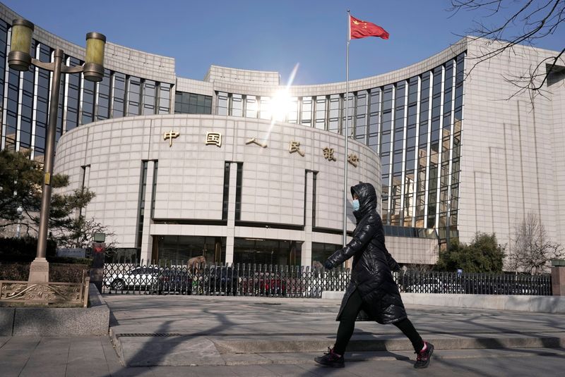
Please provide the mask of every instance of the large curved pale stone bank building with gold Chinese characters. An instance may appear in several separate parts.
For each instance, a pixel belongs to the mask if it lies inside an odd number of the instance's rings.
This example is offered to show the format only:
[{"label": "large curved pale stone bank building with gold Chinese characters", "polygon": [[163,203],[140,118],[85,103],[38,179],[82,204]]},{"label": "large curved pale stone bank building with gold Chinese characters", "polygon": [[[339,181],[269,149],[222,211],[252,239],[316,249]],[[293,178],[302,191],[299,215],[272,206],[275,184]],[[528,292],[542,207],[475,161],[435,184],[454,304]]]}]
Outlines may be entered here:
[{"label": "large curved pale stone bank building with gold Chinese characters", "polygon": [[[1,148],[42,159],[49,72],[8,68],[15,18],[0,6]],[[83,47],[32,21],[33,57],[61,48],[66,65],[84,62]],[[565,61],[542,66],[544,95],[531,99],[506,79],[559,53],[516,46],[476,65],[488,42],[465,37],[351,80],[347,101],[345,82],[287,87],[276,72],[220,66],[182,78],[172,57],[107,42],[102,81],[63,75],[55,172],[95,192],[83,214],[145,261],[323,261],[343,242],[345,166],[347,186],[376,187],[400,264],[434,264],[476,232],[508,250],[529,213],[564,244]],[[346,217],[352,232],[350,206]]]}]

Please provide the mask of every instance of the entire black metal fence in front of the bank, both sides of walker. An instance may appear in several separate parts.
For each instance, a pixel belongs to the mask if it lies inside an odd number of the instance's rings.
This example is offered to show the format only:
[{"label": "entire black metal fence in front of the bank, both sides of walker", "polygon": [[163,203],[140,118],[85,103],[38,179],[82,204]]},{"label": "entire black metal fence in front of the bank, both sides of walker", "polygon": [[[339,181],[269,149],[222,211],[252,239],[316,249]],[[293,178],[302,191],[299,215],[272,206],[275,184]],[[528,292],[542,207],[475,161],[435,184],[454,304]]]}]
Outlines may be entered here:
[{"label": "entire black metal fence in front of the bank, both sides of walker", "polygon": [[[398,271],[400,292],[552,295],[551,276]],[[319,298],[347,288],[350,270],[264,264],[106,264],[105,293]]]}]

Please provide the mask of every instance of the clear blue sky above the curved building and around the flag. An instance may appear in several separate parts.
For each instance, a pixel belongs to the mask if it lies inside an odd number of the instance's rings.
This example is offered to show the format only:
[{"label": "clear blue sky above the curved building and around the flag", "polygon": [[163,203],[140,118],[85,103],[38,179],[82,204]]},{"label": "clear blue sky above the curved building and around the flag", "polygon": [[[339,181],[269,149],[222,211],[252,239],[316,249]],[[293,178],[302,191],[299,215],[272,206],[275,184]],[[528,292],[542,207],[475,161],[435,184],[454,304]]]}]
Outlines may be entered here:
[{"label": "clear blue sky above the curved building and around the flag", "polygon": [[[294,85],[345,81],[347,9],[391,38],[350,44],[350,79],[409,66],[460,39],[473,20],[494,24],[508,11],[448,11],[449,0],[4,0],[35,25],[85,46],[87,32],[109,42],[176,59],[177,75],[202,80],[210,65],[281,74],[298,64]],[[513,1],[509,0],[511,5]],[[537,47],[563,48],[565,27]]]}]

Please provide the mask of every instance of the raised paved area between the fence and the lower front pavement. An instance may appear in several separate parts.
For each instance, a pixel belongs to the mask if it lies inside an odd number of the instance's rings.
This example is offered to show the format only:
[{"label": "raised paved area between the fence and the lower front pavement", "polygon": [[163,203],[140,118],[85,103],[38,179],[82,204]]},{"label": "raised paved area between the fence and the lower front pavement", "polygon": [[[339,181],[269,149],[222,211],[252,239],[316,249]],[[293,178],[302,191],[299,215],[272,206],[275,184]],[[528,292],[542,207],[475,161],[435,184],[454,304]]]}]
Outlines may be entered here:
[{"label": "raised paved area between the fence and the lower front pavement", "polygon": [[[127,366],[304,362],[335,341],[331,299],[107,295],[111,335]],[[436,350],[564,347],[565,314],[407,306]],[[395,326],[357,322],[348,351],[408,351]],[[412,355],[413,356],[413,355]]]}]

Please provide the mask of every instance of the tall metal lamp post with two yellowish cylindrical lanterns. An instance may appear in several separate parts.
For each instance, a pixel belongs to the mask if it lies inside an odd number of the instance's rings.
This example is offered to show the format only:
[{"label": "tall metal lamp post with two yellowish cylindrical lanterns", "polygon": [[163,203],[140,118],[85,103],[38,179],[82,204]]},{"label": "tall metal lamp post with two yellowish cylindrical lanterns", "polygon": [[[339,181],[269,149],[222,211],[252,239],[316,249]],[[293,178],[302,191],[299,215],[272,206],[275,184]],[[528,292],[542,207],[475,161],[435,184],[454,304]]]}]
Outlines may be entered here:
[{"label": "tall metal lamp post with two yellowish cylindrical lanterns", "polygon": [[43,192],[40,209],[40,229],[37,236],[37,254],[30,266],[29,281],[48,282],[49,264],[45,259],[47,249],[47,228],[49,225],[49,207],[51,204],[53,160],[55,152],[55,130],[57,128],[57,112],[59,111],[59,92],[61,73],[83,73],[85,80],[98,82],[104,77],[104,47],[106,37],[98,32],[86,35],[86,57],[83,66],[69,67],[63,64],[64,52],[54,50],[54,61],[44,63],[30,56],[31,37],[34,25],[28,20],[18,18],[12,23],[11,51],[8,54],[8,65],[14,70],[29,70],[30,64],[50,70],[51,97],[49,99],[49,123],[47,140],[45,140],[45,156],[43,166]]}]

